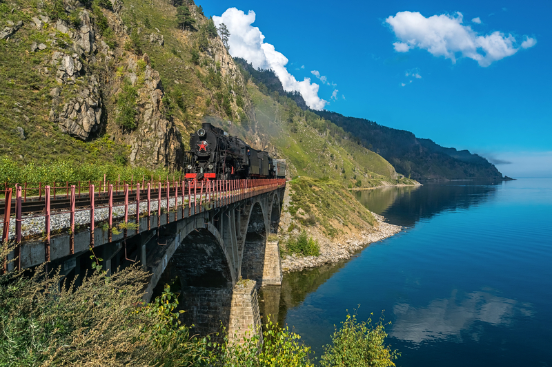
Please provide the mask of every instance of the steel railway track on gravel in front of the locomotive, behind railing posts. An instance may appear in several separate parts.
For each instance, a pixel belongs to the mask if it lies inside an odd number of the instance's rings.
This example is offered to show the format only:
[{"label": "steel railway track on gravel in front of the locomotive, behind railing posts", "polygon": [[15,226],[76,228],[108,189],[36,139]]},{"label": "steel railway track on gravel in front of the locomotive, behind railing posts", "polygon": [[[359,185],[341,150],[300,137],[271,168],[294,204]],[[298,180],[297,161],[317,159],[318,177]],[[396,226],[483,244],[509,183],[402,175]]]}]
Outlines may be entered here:
[{"label": "steel railway track on gravel in front of the locomotive, behind railing posts", "polygon": [[[179,193],[181,191],[179,190]],[[140,201],[146,200],[147,198],[146,191],[140,192]],[[173,198],[175,196],[175,189],[169,190],[169,196]],[[167,190],[161,189],[161,200],[166,199],[167,197]],[[157,200],[159,198],[159,190],[152,190],[150,193],[151,200]],[[134,202],[136,200],[136,191],[129,191],[128,192],[128,202]],[[113,205],[121,205],[125,202],[125,195],[124,193],[113,193]],[[67,198],[65,195],[63,198],[52,198],[50,196],[50,211],[63,211],[63,209],[69,210],[70,209],[70,198]],[[94,196],[94,205],[95,206],[103,206],[109,204],[109,196],[108,193],[97,193]],[[46,202],[42,198],[39,200],[38,198],[27,198],[27,201],[21,202],[21,215],[28,216],[33,213],[43,213],[46,207]],[[75,198],[75,209],[79,208],[90,208],[90,196],[88,194],[81,194],[81,197]],[[11,205],[11,213],[14,214],[14,208],[15,208],[15,199],[12,198],[12,205]],[[4,213],[6,211],[6,200],[0,200],[0,216],[3,217]]]}]

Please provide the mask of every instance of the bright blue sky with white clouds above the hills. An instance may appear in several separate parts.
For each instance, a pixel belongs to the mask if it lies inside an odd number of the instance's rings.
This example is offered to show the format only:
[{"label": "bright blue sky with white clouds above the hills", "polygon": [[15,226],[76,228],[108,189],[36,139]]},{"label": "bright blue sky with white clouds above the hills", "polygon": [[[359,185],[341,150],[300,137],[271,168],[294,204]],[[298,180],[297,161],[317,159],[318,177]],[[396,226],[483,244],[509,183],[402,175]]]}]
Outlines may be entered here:
[{"label": "bright blue sky with white clouds above the hills", "polygon": [[552,1],[205,1],[313,109],[552,177]]}]

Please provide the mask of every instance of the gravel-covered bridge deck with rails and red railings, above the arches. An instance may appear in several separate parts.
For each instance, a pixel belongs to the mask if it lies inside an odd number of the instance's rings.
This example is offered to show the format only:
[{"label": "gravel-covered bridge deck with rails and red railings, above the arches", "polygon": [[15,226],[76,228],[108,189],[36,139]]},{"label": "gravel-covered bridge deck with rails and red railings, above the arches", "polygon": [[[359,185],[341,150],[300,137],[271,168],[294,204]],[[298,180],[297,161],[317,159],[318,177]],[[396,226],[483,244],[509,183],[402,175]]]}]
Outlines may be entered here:
[{"label": "gravel-covered bridge deck with rails and red railings, above the arches", "polygon": [[[140,218],[148,218],[149,223],[150,216],[160,217],[161,213],[166,213],[167,222],[170,222],[172,213],[174,220],[177,220],[284,185],[284,179],[157,182],[153,185],[148,182],[145,187],[139,183],[132,186],[126,184],[121,189],[117,187],[118,190],[114,190],[114,185],[105,185],[103,190],[90,185],[86,187],[87,193],[81,193],[81,188],[77,189],[76,185],[67,185],[67,192],[62,198],[59,198],[59,191],[56,197],[51,188],[46,186],[43,188],[44,193],[39,195],[40,200],[29,198],[28,201],[22,194],[23,186],[15,185],[14,189],[3,191],[6,199],[0,202],[4,209],[1,240],[16,242],[17,255],[21,252],[21,243],[31,240],[36,242],[38,239],[46,245],[45,261],[48,262],[53,235],[68,233],[72,254],[75,231],[89,231],[93,245],[95,228],[107,230],[111,240],[112,233],[132,228],[134,223],[136,225],[140,222]],[[27,215],[23,216],[24,213]],[[133,224],[129,225],[129,222]],[[16,267],[21,269],[21,264],[16,264]],[[3,271],[6,269],[4,262]]]}]

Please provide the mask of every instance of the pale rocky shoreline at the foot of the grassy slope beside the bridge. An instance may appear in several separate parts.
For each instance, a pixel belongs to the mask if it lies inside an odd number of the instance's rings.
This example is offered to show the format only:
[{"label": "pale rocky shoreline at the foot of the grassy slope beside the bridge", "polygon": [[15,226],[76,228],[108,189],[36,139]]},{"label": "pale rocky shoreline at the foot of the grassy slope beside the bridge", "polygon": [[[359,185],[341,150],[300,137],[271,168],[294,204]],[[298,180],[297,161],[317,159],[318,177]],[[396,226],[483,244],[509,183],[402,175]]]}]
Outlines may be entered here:
[{"label": "pale rocky shoreline at the foot of the grassy slope beside the bridge", "polygon": [[359,238],[321,246],[319,256],[298,256],[295,253],[288,255],[286,258],[282,258],[282,271],[284,273],[302,271],[351,258],[353,253],[364,249],[368,244],[384,240],[402,230],[400,226],[386,223],[385,218],[376,213],[373,213],[373,216],[377,220],[377,224],[369,231],[362,232]]}]

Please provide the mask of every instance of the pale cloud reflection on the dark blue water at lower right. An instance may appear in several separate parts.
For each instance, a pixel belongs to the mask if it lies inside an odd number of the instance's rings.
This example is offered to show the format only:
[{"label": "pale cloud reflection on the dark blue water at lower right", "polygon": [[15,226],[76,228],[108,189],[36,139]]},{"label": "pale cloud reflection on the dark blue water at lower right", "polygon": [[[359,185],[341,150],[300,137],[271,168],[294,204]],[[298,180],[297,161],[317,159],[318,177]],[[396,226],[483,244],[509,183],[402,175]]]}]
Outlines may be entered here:
[{"label": "pale cloud reflection on the dark blue water at lower right", "polygon": [[433,300],[427,307],[397,303],[397,317],[389,335],[406,342],[420,344],[437,339],[462,342],[462,333],[478,340],[483,330],[476,322],[508,326],[515,317],[533,315],[531,304],[524,304],[489,292],[479,291],[461,295],[453,291],[448,299]]}]

